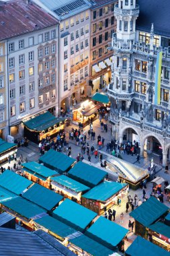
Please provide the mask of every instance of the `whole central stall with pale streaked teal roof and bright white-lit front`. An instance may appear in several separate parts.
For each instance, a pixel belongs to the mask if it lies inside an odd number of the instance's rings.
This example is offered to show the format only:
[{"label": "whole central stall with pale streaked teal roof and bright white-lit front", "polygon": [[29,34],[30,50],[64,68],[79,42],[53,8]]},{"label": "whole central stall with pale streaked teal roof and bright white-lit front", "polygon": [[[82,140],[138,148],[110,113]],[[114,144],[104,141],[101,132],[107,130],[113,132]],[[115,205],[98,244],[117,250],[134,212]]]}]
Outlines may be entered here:
[{"label": "whole central stall with pale streaked teal roof and bright white-lit front", "polygon": [[69,199],[74,199],[77,203],[81,203],[81,195],[90,188],[75,181],[65,175],[51,177],[51,187],[54,191],[65,195]]}]

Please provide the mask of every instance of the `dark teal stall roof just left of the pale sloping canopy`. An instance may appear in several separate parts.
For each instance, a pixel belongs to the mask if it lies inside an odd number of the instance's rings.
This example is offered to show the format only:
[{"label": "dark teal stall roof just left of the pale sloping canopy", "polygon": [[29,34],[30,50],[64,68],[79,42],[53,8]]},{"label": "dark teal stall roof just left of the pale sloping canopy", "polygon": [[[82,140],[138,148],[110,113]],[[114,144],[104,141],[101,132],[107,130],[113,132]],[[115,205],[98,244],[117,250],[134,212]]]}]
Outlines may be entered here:
[{"label": "dark teal stall roof just left of the pale sloping canopy", "polygon": [[95,187],[108,176],[108,173],[89,164],[78,162],[69,170],[68,176],[88,187]]}]

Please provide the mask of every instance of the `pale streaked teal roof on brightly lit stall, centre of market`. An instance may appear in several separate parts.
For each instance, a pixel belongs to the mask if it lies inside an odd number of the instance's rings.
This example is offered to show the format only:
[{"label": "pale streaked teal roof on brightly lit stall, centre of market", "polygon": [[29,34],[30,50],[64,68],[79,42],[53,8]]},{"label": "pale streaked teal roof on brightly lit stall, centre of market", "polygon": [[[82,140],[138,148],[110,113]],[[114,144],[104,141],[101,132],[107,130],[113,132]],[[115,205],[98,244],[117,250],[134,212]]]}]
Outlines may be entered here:
[{"label": "pale streaked teal roof on brightly lit stall, centre of market", "polygon": [[67,189],[71,189],[72,191],[75,191],[77,193],[89,190],[90,188],[79,183],[78,181],[75,181],[65,175],[60,175],[58,177],[52,177],[51,181],[54,181],[58,183],[59,185],[62,185],[63,187],[67,187]]}]

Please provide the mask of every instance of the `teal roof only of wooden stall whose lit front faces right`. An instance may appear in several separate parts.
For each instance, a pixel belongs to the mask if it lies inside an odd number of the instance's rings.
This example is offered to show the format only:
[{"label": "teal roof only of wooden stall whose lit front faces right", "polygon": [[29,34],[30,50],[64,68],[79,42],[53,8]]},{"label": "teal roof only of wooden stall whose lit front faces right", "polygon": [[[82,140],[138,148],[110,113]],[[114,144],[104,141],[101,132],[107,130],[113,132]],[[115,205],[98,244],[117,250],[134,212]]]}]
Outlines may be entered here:
[{"label": "teal roof only of wooden stall whose lit front faces right", "polygon": [[85,193],[83,197],[97,201],[107,201],[126,186],[126,183],[104,181]]}]

